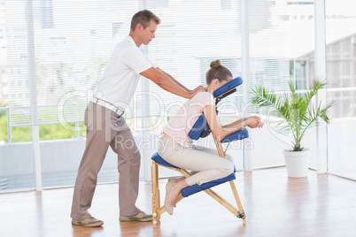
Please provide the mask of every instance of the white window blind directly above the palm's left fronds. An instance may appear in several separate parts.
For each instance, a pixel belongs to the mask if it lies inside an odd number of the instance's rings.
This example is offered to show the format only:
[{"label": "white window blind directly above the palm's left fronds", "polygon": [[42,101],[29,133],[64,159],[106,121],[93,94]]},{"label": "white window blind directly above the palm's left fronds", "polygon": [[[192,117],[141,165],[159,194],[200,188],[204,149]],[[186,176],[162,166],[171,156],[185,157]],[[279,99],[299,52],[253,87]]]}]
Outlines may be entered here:
[{"label": "white window blind directly above the palm's left fronds", "polygon": [[283,91],[290,79],[286,1],[247,1],[252,86]]}]

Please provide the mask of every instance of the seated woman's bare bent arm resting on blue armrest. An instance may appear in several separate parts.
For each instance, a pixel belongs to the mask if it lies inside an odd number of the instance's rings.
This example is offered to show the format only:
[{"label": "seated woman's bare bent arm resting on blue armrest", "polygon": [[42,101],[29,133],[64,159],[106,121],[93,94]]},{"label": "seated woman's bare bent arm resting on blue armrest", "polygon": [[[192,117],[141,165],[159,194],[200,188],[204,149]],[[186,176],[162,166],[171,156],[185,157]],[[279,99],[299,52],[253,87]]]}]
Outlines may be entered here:
[{"label": "seated woman's bare bent arm resting on blue armrest", "polygon": [[221,139],[228,136],[229,134],[236,133],[244,126],[250,126],[251,128],[263,126],[259,117],[257,116],[252,116],[247,119],[239,119],[236,122],[231,123],[228,127],[221,126],[221,123],[216,115],[214,105],[206,105],[203,111],[210,129],[212,129],[213,137],[219,141],[221,141]]}]

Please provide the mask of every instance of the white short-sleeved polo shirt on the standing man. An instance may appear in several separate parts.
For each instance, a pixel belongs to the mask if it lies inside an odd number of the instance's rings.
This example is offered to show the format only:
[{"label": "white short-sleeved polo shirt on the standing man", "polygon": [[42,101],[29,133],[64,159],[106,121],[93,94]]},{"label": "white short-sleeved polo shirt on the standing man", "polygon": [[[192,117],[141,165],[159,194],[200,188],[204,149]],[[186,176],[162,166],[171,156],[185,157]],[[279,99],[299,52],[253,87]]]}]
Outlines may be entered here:
[{"label": "white short-sleeved polo shirt on the standing man", "polygon": [[138,48],[131,36],[118,43],[99,80],[94,96],[125,111],[134,96],[140,74],[153,65],[144,45]]}]

